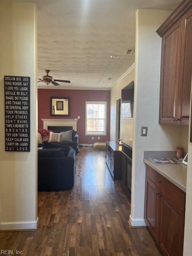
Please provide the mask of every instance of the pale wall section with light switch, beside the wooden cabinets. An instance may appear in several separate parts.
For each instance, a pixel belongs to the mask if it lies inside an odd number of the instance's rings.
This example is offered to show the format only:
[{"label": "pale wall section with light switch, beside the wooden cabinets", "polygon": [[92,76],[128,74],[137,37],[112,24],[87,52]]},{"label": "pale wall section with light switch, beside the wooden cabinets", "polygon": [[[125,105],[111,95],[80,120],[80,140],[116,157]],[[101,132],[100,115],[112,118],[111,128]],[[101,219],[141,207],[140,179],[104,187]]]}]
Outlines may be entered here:
[{"label": "pale wall section with light switch, beside the wooden cabinets", "polygon": [[[170,14],[163,10],[137,10],[134,98],[134,143],[130,222],[144,222],[144,150],[175,150],[180,144],[180,127],[158,123],[161,38],[156,29]],[[141,126],[148,136],[141,137]]]}]

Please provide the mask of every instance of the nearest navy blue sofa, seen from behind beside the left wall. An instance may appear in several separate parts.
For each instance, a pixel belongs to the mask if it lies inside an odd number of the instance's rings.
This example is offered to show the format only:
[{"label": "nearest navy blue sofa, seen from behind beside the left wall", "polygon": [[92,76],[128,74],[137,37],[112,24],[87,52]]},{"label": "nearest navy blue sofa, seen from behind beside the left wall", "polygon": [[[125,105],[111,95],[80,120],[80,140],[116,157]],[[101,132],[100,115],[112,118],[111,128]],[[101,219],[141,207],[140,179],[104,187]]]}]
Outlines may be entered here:
[{"label": "nearest navy blue sofa, seen from behind beside the left wall", "polygon": [[[43,150],[43,151],[39,151]],[[75,156],[73,148],[69,148],[67,155],[62,153],[57,157],[57,151],[62,149],[39,149],[38,150],[38,190],[61,190],[74,186]],[[50,155],[52,151],[52,155]],[[47,153],[48,152],[48,153]],[[56,154],[55,154],[56,153]],[[61,153],[61,152],[60,152]]]}]

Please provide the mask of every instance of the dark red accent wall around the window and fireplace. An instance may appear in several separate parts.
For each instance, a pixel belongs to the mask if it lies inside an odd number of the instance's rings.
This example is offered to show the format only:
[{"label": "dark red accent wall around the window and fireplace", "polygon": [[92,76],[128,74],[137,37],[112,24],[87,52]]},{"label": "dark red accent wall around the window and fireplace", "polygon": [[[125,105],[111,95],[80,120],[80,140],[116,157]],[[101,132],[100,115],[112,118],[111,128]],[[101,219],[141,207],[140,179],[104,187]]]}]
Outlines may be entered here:
[{"label": "dark red accent wall around the window and fireplace", "polygon": [[[50,97],[70,97],[70,116],[50,116]],[[85,102],[106,101],[107,120],[106,136],[85,135]],[[110,138],[110,90],[59,90],[59,89],[38,89],[38,128],[43,128],[44,118],[66,118],[74,119],[80,116],[77,122],[77,134],[80,144],[92,144],[94,142],[105,142]],[[100,136],[100,140],[98,140]],[[94,140],[92,140],[94,137]]]}]

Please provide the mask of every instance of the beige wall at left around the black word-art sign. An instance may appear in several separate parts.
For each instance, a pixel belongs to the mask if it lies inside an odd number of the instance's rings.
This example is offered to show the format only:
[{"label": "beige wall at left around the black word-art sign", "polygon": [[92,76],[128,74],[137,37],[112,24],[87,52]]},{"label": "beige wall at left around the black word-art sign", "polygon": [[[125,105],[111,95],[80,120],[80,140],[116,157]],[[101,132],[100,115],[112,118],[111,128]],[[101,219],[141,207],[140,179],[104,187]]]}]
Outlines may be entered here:
[{"label": "beige wall at left around the black word-art sign", "polygon": [[[37,221],[36,5],[0,3],[0,228]],[[4,151],[4,75],[30,76],[30,152]]]}]

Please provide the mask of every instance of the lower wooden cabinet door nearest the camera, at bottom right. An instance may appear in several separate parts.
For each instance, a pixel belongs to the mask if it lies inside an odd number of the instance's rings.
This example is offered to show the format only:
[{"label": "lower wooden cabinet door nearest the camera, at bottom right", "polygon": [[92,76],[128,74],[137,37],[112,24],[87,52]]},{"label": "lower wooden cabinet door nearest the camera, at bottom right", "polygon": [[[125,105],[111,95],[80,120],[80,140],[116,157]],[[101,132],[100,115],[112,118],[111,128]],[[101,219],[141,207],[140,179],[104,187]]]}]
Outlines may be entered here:
[{"label": "lower wooden cabinet door nearest the camera, at bottom right", "polygon": [[160,248],[166,256],[183,255],[184,211],[164,193],[160,205]]}]

